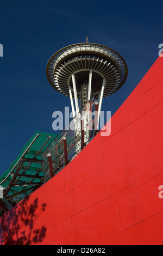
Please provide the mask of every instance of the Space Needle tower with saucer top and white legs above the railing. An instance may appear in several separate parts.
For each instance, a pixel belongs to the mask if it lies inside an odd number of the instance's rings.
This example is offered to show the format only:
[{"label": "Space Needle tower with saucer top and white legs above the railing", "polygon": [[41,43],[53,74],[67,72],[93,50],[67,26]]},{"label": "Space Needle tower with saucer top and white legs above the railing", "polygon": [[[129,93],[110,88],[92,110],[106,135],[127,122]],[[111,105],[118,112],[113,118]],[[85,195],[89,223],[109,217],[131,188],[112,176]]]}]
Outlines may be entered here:
[{"label": "Space Needle tower with saucer top and white legs above the railing", "polygon": [[128,76],[122,56],[111,48],[86,42],[62,48],[46,67],[49,83],[70,97],[73,117],[92,97],[98,102],[98,122],[104,97],[120,89]]}]

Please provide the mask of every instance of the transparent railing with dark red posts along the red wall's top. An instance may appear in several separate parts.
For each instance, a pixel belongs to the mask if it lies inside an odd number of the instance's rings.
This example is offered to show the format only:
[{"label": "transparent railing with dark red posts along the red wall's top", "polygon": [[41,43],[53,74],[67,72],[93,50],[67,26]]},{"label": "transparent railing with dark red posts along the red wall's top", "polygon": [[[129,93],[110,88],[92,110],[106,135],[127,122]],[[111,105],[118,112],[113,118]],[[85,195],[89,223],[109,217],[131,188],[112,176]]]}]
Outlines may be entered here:
[{"label": "transparent railing with dark red posts along the red wall's top", "polygon": [[97,113],[98,103],[93,97],[41,154],[44,182],[71,162],[97,134]]}]

